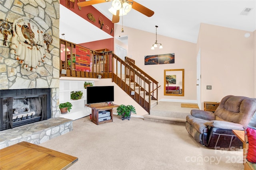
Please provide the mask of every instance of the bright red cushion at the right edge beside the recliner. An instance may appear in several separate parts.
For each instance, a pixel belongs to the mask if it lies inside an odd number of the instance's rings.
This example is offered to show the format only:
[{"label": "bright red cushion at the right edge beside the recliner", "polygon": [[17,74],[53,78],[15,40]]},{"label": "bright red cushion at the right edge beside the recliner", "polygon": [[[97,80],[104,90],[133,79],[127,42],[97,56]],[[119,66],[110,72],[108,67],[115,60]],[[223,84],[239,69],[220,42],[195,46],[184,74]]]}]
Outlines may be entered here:
[{"label": "bright red cushion at the right edge beside the recliner", "polygon": [[248,127],[246,132],[249,143],[247,160],[249,162],[256,163],[256,129]]}]

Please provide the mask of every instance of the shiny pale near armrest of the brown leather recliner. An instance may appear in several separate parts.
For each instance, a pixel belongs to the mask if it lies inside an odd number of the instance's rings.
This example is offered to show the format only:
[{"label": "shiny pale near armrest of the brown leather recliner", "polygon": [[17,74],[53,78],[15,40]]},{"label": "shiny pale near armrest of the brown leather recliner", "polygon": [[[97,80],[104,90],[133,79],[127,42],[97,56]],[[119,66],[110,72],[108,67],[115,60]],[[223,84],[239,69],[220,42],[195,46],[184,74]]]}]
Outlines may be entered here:
[{"label": "shiny pale near armrest of the brown leather recliner", "polygon": [[217,127],[221,129],[230,129],[230,130],[234,129],[234,130],[240,130],[240,131],[244,130],[243,125],[239,123],[229,122],[229,121],[212,120],[204,123],[204,125],[210,126],[210,127]]}]

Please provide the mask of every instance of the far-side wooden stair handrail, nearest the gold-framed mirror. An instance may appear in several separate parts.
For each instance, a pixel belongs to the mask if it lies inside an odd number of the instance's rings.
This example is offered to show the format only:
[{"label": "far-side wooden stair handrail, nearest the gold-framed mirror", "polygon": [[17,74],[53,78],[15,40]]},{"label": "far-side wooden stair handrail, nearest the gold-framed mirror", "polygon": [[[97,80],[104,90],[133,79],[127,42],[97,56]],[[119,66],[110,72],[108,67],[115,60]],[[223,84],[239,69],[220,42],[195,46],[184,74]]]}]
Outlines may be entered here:
[{"label": "far-side wooden stair handrail, nearest the gold-framed mirror", "polygon": [[[129,57],[125,57],[125,61],[130,66],[132,66],[136,71],[138,71],[140,74],[142,74],[143,76],[148,78],[148,80],[150,80],[150,82],[152,82],[152,87],[151,87],[152,91],[150,92],[150,96],[152,97],[152,99],[156,100],[157,104],[158,104],[158,88],[160,87],[160,86],[158,86],[158,81],[156,81],[154,78],[152,78],[146,72],[144,72],[142,69],[140,69],[138,66],[136,66],[135,61],[133,59],[131,59]],[[154,93],[154,91],[156,91],[156,93]]]}]

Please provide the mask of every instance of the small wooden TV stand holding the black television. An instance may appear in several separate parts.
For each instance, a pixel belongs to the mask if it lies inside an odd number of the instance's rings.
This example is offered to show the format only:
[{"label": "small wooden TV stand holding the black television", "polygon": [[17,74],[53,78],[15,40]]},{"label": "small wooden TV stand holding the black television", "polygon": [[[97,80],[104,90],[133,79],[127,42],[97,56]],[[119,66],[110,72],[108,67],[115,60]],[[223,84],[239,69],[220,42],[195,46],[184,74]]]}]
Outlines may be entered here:
[{"label": "small wooden TV stand holding the black television", "polygon": [[[86,104],[87,107],[92,108],[92,122],[96,125],[108,123],[113,121],[113,108],[118,107],[116,104],[97,103],[97,104]],[[110,111],[110,119],[105,121],[99,121],[100,111]]]}]

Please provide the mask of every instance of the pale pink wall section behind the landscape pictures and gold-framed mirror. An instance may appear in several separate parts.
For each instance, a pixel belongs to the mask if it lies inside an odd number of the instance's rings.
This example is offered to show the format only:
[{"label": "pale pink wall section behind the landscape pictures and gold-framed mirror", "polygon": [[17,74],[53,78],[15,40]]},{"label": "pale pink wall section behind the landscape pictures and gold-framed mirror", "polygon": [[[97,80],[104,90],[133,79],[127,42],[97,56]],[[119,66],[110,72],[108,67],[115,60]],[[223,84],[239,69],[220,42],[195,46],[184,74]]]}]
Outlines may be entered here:
[{"label": "pale pink wall section behind the landscape pictures and gold-framed mirror", "polygon": [[[115,25],[115,30],[121,30],[121,25]],[[128,35],[127,56],[135,60],[137,66],[159,82],[159,99],[196,100],[196,44],[170,37],[158,35],[158,43],[163,49],[151,50],[156,34],[124,27],[124,33],[115,32],[115,37]],[[120,45],[118,40],[114,40]],[[144,65],[145,55],[175,53],[174,64]],[[184,68],[184,96],[164,96],[164,70]]]}]

